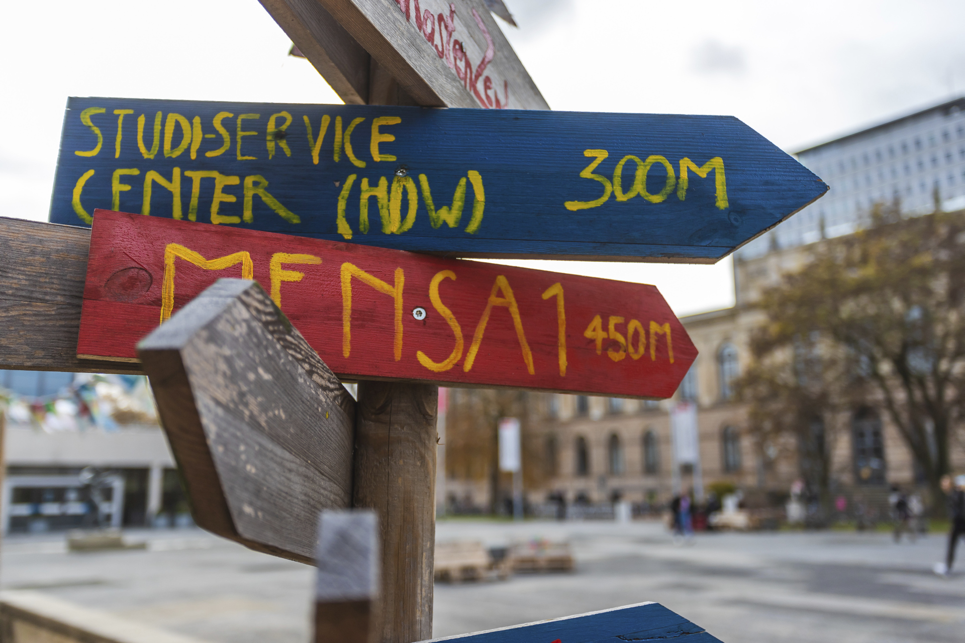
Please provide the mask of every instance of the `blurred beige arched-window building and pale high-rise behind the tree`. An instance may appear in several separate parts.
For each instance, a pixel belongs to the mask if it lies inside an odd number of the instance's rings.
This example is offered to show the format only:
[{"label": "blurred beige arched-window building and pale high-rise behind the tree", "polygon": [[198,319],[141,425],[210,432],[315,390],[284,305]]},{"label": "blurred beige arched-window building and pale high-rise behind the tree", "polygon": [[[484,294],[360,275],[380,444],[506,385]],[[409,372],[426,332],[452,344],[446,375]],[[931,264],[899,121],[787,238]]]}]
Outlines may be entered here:
[{"label": "blurred beige arched-window building and pale high-rise behind the tree", "polygon": [[[860,228],[874,203],[898,202],[911,216],[936,205],[965,208],[965,98],[809,147],[798,158],[831,186],[829,194],[734,255],[733,308],[680,319],[700,355],[673,398],[530,394],[524,434],[531,445],[524,453],[538,473],[527,477],[532,503],[623,499],[647,510],[688,490],[701,499],[704,489],[725,482],[774,504],[803,476],[796,455],[754,442],[746,407],[734,398],[733,383],[751,357],[750,335],[762,321],[753,304],[784,273],[804,265],[806,246]],[[451,418],[459,415],[458,399]],[[850,435],[829,446],[837,493],[880,504],[889,484],[922,482],[911,452],[873,403],[856,410],[850,425]],[[451,421],[450,440],[459,431]],[[697,457],[681,457],[688,432],[696,433],[696,448],[689,450]],[[958,468],[965,466],[963,446],[953,445]],[[490,479],[492,468],[482,478],[478,469],[457,463],[446,469],[452,508],[498,507],[491,496],[506,487]]]}]

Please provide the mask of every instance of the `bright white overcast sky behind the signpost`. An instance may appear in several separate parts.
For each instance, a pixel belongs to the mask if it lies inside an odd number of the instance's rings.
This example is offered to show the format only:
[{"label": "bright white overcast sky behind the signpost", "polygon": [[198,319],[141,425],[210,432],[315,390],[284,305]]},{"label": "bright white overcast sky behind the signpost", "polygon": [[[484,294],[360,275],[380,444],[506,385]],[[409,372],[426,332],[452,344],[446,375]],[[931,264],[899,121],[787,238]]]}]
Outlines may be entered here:
[{"label": "bright white overcast sky behind the signpost", "polygon": [[[507,5],[519,29],[500,24],[557,110],[727,114],[794,151],[965,94],[962,0]],[[256,0],[14,3],[4,18],[0,216],[46,219],[69,95],[340,102]],[[655,283],[678,314],[733,301],[730,259],[528,263]]]}]

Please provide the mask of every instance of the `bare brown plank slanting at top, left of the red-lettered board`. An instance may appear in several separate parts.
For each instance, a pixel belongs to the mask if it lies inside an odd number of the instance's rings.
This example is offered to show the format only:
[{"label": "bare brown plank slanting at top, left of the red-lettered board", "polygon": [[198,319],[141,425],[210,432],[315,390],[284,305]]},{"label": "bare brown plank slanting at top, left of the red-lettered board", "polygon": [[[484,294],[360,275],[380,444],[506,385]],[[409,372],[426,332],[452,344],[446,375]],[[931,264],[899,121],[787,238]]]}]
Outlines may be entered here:
[{"label": "bare brown plank slanting at top, left of the red-lettered board", "polygon": [[260,2],[346,104],[369,102],[369,52],[331,13],[315,0]]}]

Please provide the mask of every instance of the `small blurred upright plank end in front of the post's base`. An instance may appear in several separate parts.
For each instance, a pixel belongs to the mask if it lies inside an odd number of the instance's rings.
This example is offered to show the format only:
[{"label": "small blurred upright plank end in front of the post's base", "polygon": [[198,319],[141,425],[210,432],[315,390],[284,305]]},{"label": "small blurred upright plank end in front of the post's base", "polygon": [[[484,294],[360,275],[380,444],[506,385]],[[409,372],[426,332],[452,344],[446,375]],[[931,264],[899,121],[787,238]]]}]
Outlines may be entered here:
[{"label": "small blurred upright plank end in front of the post's base", "polygon": [[373,643],[380,570],[375,512],[321,512],[316,565],[315,643]]}]

